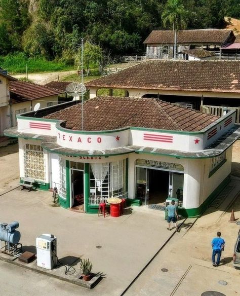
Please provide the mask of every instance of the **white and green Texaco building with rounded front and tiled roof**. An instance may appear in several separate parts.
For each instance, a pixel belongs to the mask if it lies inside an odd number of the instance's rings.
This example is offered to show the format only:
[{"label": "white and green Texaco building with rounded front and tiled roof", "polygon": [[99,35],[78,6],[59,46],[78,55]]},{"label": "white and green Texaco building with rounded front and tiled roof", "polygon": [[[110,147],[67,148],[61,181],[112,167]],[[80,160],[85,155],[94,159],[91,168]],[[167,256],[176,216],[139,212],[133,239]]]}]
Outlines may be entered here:
[{"label": "white and green Texaco building with rounded front and tiled roof", "polygon": [[109,197],[146,207],[172,197],[193,217],[230,180],[235,111],[220,118],[159,99],[95,97],[83,114],[81,103],[51,106],[5,131],[19,139],[20,178],[42,190],[57,183],[64,208],[96,213]]}]

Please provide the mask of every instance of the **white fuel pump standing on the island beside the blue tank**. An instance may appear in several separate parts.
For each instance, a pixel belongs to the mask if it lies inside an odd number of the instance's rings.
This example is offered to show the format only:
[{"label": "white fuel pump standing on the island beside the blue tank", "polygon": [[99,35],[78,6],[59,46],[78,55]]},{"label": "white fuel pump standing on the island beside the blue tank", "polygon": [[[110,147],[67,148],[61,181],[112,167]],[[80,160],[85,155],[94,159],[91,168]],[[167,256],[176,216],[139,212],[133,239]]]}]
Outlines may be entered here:
[{"label": "white fuel pump standing on the island beside the blue tank", "polygon": [[57,238],[52,234],[42,234],[36,238],[36,264],[53,269],[57,265]]}]

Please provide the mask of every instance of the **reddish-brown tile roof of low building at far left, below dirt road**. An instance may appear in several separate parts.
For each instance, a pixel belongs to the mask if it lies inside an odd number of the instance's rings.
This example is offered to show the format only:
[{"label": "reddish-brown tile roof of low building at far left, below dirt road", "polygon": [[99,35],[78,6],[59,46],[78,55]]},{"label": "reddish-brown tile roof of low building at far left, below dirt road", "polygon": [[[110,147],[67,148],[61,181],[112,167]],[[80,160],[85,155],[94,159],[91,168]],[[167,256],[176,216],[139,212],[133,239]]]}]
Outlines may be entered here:
[{"label": "reddish-brown tile roof of low building at far left, below dirt road", "polygon": [[25,81],[12,81],[9,83],[11,102],[19,103],[24,100],[35,100],[44,97],[59,95],[63,91],[49,88],[43,85]]}]

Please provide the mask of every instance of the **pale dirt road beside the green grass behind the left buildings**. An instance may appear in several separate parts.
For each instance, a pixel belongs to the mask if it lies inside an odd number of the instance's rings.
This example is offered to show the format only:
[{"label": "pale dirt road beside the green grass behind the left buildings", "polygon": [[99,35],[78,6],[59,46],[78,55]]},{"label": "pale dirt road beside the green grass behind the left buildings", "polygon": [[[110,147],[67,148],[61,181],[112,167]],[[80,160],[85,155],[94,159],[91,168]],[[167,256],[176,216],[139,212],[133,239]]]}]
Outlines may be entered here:
[{"label": "pale dirt road beside the green grass behind the left buildings", "polygon": [[[74,74],[76,71],[62,71],[62,72],[51,72],[51,73],[29,73],[28,74],[28,79],[36,84],[41,84],[45,85],[46,83],[49,83],[51,81],[58,81],[61,80],[62,78]],[[16,74],[13,75],[13,77],[17,79],[22,79],[26,78],[26,74]]]}]

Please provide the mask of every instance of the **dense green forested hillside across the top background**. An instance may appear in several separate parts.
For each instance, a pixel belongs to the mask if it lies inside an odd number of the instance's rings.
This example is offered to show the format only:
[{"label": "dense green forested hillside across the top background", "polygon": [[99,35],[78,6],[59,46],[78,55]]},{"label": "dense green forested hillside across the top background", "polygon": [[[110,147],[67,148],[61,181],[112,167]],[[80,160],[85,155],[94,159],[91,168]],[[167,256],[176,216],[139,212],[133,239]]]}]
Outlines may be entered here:
[{"label": "dense green forested hillside across the top background", "polygon": [[[136,54],[163,29],[167,0],[0,0],[0,55],[71,59],[81,36],[111,54]],[[239,0],[185,0],[187,28],[219,28],[239,17]],[[172,29],[172,28],[165,28]]]}]

